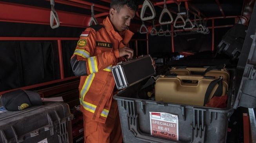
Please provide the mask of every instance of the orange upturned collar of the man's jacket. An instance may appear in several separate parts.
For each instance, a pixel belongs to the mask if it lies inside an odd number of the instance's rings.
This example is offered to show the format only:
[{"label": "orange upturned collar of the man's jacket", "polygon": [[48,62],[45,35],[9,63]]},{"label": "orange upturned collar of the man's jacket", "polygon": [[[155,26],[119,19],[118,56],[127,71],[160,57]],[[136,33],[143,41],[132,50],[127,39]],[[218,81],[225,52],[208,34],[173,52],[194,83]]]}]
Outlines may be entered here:
[{"label": "orange upturned collar of the man's jacket", "polygon": [[130,30],[124,30],[123,32],[116,32],[114,30],[114,27],[113,27],[110,19],[109,19],[109,16],[107,16],[107,18],[105,18],[103,20],[103,25],[104,25],[105,29],[113,35],[114,39],[116,39],[118,41],[123,40],[123,43],[125,45],[127,45],[129,43],[129,41],[131,40],[131,38],[134,35],[134,33],[131,32]]}]

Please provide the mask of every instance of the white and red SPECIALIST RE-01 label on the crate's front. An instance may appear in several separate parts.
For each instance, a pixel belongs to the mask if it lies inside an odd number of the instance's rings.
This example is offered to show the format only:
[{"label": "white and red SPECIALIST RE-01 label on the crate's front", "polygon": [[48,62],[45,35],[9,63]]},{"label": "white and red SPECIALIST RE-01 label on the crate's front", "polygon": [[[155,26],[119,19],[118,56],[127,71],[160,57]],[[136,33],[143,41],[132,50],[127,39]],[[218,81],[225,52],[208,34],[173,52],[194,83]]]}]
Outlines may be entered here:
[{"label": "white and red SPECIALIST RE-01 label on the crate's front", "polygon": [[149,112],[151,135],[179,140],[178,115]]}]

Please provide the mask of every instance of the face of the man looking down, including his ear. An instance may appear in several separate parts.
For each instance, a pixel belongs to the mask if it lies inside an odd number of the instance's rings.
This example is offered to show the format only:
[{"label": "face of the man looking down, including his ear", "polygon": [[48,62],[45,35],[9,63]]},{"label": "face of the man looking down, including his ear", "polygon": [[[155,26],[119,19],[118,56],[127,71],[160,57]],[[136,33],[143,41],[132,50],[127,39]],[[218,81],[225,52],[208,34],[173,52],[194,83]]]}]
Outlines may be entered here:
[{"label": "face of the man looking down, including his ear", "polygon": [[135,11],[131,10],[127,5],[118,11],[116,9],[110,9],[110,20],[117,31],[121,32],[130,26],[131,19],[135,16]]}]

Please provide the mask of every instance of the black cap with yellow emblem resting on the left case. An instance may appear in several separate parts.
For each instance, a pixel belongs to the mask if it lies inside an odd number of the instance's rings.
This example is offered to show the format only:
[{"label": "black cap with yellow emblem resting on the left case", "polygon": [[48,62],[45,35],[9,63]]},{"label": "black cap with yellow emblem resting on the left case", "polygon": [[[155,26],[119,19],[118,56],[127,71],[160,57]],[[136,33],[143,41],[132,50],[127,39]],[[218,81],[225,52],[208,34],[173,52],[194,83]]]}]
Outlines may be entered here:
[{"label": "black cap with yellow emblem resting on the left case", "polygon": [[3,106],[8,111],[20,111],[32,105],[43,105],[37,92],[22,89],[4,93],[0,98]]}]

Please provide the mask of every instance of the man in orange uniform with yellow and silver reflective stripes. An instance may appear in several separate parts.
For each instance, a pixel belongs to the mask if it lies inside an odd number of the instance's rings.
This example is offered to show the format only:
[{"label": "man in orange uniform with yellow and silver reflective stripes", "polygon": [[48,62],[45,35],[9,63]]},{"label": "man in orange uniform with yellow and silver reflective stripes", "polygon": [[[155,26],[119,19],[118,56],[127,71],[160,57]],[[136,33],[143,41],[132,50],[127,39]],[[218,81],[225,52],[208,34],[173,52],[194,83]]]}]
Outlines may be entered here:
[{"label": "man in orange uniform with yellow and silver reflective stripes", "polygon": [[127,30],[138,9],[137,0],[111,0],[109,16],[80,36],[71,66],[80,78],[80,110],[84,114],[86,143],[122,143],[122,132],[111,66],[123,56],[133,57],[127,47],[133,32]]}]

